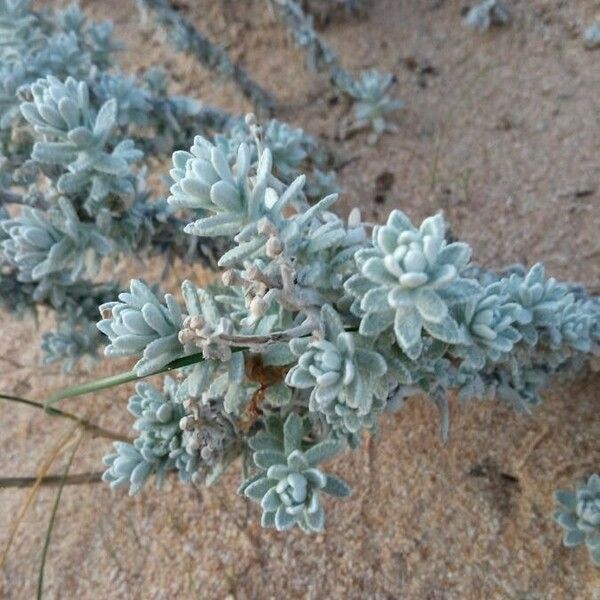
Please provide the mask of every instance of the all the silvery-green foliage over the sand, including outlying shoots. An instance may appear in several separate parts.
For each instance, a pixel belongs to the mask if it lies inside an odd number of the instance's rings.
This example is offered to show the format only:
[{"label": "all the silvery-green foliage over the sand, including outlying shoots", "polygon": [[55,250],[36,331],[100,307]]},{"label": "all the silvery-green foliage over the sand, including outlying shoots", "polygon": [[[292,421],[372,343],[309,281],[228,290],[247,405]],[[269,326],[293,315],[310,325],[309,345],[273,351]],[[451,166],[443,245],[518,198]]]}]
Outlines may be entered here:
[{"label": "all the silvery-green foliage over the sand, including outlying shoots", "polygon": [[[172,43],[272,106],[166,0],[140,3]],[[351,127],[373,139],[390,130],[393,76],[355,79],[298,2],[272,4],[310,65],[356,101]],[[480,29],[506,18],[499,2],[474,10]],[[440,214],[419,226],[399,210],[383,226],[358,209],[340,218],[334,173],[318,170],[333,153],[280,121],[263,128],[254,115],[242,122],[171,96],[160,70],[141,80],[108,71],[111,32],[74,7],[40,14],[0,0],[0,199],[19,207],[0,206],[0,301],[28,316],[38,304],[56,309],[47,364],[94,356],[102,332],[105,354],[135,357],[139,377],[180,369],[163,391],[136,387],[138,437],[106,458],[113,488],[134,494],[171,471],[211,484],[240,457],[252,471],[242,490],[261,503],[264,526],[321,531],[321,492],[349,488],[319,463],[359,447],[384,411],[425,395],[446,437],[451,392],[531,412],[555,373],[600,354],[600,301],[580,286],[541,265],[474,266]],[[152,198],[145,159],[192,139],[173,155],[168,200]],[[184,281],[180,303],[138,280],[121,294],[118,282],[96,281],[102,261],[155,254],[167,265],[218,262],[221,283]],[[594,560],[598,481],[559,497],[569,541],[586,541]]]}]

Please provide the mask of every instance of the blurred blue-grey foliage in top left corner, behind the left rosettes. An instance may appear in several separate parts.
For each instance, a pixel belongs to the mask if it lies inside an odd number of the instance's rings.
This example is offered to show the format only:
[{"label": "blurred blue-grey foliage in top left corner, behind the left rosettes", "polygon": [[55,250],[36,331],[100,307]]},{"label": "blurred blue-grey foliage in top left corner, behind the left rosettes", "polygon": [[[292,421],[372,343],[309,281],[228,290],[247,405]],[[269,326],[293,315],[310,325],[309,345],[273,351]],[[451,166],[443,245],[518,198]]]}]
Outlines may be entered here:
[{"label": "blurred blue-grey foliage in top left corner, behind the left rosettes", "polygon": [[[190,98],[169,96],[157,69],[151,69],[141,82],[125,78],[114,65],[114,55],[121,45],[112,37],[112,24],[90,22],[75,5],[37,13],[31,10],[28,0],[2,3],[0,21],[4,27],[0,154],[9,159],[0,174],[5,178],[14,174],[31,153],[31,137],[23,128],[18,91],[48,75],[60,81],[67,77],[84,81],[97,108],[116,99],[120,105],[120,136],[131,137],[138,146],[152,152],[172,152],[174,146],[188,144],[198,131],[220,130],[229,119],[224,111]],[[147,110],[140,129],[142,97]],[[125,115],[133,120],[123,123]]]}]

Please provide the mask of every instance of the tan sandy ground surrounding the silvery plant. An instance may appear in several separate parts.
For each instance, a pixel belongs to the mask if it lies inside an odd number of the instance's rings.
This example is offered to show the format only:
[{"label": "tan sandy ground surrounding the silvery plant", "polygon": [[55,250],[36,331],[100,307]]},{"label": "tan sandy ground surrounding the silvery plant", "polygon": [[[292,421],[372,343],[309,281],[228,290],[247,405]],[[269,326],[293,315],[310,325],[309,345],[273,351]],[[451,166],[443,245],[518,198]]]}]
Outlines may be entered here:
[{"label": "tan sandy ground surrounding the silvery plant", "polygon": [[[231,83],[158,44],[132,4],[83,3],[96,17],[116,21],[128,45],[127,70],[160,63],[174,89],[232,111],[249,108]],[[306,73],[264,2],[179,4],[193,5],[188,15],[198,27],[277,96],[280,118],[333,143],[345,108],[322,77]],[[394,207],[417,220],[443,209],[478,262],[498,267],[543,260],[552,275],[598,291],[600,53],[585,51],[580,34],[600,13],[600,2],[509,2],[513,24],[483,36],[460,27],[460,1],[370,4],[368,19],[342,19],[323,35],[349,68],[394,72],[407,108],[397,119],[399,133],[377,147],[363,136],[338,144],[353,159],[340,173],[346,190],[340,209],[358,204],[373,220]],[[376,185],[382,173],[393,174],[384,193]],[[179,269],[169,285],[183,273]],[[129,366],[105,362],[68,377],[42,371],[30,366],[39,360],[37,337],[31,322],[4,319],[3,391],[43,398],[67,383]],[[332,464],[355,493],[328,503],[327,531],[314,537],[261,530],[257,508],[235,494],[235,470],[215,488],[169,482],[136,498],[98,484],[69,487],[45,597],[598,598],[600,577],[585,549],[564,549],[550,518],[552,491],[600,464],[598,383],[597,375],[557,382],[533,418],[492,403],[453,405],[445,445],[433,406],[411,402],[385,418],[380,435],[361,452]],[[64,405],[127,433],[130,392],[116,389]],[[69,427],[4,406],[1,474],[34,474]],[[73,472],[98,470],[108,447],[104,440],[84,440]],[[51,471],[59,472],[65,460],[63,454]],[[54,494],[42,490],[23,520],[0,571],[1,597],[34,596]],[[0,492],[1,546],[26,495]]]}]

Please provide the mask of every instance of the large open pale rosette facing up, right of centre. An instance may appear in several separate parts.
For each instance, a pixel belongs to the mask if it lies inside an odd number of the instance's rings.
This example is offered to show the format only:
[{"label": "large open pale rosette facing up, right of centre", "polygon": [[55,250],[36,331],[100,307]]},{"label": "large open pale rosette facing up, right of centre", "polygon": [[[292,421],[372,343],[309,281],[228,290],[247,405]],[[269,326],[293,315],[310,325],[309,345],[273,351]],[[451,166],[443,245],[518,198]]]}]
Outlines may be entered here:
[{"label": "large open pale rosette facing up, right of centre", "polygon": [[346,282],[357,300],[360,333],[376,336],[390,327],[402,350],[412,359],[421,354],[421,332],[449,344],[463,341],[448,304],[479,291],[476,282],[461,277],[470,248],[447,244],[441,215],[425,219],[416,229],[395,210],[387,225],[373,230],[373,247],[356,255],[361,274]]}]

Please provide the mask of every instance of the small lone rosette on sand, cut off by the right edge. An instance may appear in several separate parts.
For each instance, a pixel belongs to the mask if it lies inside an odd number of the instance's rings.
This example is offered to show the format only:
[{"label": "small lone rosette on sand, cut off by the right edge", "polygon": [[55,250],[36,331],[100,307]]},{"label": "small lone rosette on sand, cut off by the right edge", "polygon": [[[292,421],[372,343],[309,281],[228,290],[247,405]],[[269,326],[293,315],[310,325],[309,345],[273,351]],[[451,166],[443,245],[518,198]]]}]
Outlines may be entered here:
[{"label": "small lone rosette on sand, cut off by the right edge", "polygon": [[559,505],[554,520],[565,530],[564,545],[585,544],[592,562],[600,567],[600,475],[590,475],[575,491],[558,490],[554,497]]}]

